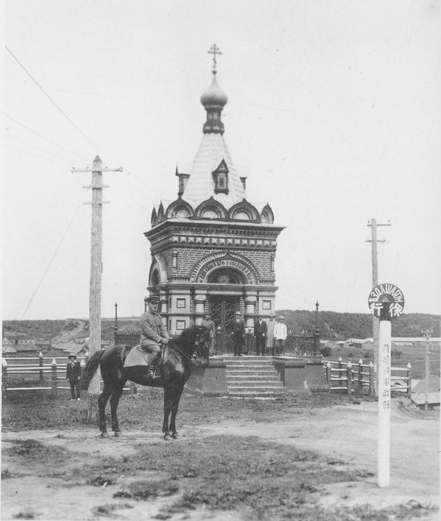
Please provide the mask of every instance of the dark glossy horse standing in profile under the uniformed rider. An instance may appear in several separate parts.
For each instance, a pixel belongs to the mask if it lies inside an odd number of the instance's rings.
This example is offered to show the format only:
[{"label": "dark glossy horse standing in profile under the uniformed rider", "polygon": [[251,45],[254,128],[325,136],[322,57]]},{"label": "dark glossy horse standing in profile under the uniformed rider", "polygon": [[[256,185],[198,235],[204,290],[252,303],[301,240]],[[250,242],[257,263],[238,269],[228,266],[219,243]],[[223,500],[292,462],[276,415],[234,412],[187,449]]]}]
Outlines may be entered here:
[{"label": "dark glossy horse standing in profile under the uniformed rider", "polygon": [[[122,395],[122,389],[127,380],[141,386],[161,386],[164,388],[164,421],[162,431],[166,440],[170,436],[177,438],[176,414],[184,385],[190,377],[191,365],[207,367],[209,363],[209,331],[204,326],[190,326],[182,334],[168,342],[168,361],[159,367],[161,380],[147,378],[147,366],[136,365],[124,367],[125,359],[130,349],[129,345],[113,345],[104,351],[97,351],[91,357],[83,370],[81,387],[87,389],[93,375],[98,369],[104,381],[104,390],[98,399],[99,430],[101,436],[107,436],[105,408],[110,398],[112,429],[115,436],[120,436],[116,409]],[[193,356],[194,355],[194,356]],[[168,424],[168,417],[171,419]]]}]

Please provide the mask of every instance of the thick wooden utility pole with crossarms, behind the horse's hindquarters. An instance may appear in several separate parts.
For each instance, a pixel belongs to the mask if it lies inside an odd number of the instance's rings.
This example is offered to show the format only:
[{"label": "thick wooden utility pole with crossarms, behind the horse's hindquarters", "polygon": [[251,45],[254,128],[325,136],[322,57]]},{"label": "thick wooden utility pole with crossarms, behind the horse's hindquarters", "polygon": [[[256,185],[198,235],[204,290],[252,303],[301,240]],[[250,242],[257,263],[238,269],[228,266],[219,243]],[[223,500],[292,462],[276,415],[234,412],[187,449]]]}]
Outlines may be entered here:
[{"label": "thick wooden utility pole with crossarms, behind the horse's hindquarters", "polygon": [[[90,291],[89,291],[89,356],[101,349],[101,276],[102,276],[102,205],[109,201],[102,200],[102,189],[109,188],[103,185],[103,172],[122,172],[120,168],[103,168],[101,159],[97,156],[93,160],[92,168],[72,168],[72,172],[92,172],[92,184],[83,188],[92,188],[92,201],[84,204],[92,205],[92,229],[90,248]],[[88,420],[96,419],[98,411],[98,397],[101,392],[99,370],[90,381],[88,393]]]}]

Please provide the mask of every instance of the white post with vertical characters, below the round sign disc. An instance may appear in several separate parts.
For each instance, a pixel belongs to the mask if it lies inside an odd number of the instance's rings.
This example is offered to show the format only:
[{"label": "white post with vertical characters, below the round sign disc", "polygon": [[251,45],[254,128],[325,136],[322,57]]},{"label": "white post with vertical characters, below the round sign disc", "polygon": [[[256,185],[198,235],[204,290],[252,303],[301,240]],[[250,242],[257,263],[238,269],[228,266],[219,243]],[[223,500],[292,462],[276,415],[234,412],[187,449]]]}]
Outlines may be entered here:
[{"label": "white post with vertical characters, below the round sign disc", "polygon": [[378,331],[378,486],[390,483],[390,344],[391,324],[380,320]]}]

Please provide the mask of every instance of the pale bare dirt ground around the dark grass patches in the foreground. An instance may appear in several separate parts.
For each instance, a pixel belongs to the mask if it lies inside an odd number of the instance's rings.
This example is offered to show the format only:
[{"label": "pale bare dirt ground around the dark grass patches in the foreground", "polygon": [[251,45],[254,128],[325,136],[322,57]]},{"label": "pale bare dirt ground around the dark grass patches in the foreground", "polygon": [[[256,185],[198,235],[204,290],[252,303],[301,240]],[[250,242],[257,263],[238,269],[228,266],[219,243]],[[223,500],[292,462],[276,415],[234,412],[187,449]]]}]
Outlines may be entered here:
[{"label": "pale bare dirt ground around the dark grass patches in the foreground", "polygon": [[[106,483],[104,477],[104,483],[97,486],[97,483],[90,484],[81,479],[66,483],[56,470],[61,465],[65,473],[71,465],[72,472],[78,472],[78,461],[71,464],[70,454],[83,454],[83,461],[88,464],[98,464],[107,456],[124,462],[127,457],[136,455],[140,444],[161,446],[159,444],[169,443],[179,447],[179,444],[191,439],[193,445],[198,445],[213,436],[225,434],[243,437],[241,439],[252,436],[264,443],[275,442],[307,449],[326,456],[328,463],[357,469],[358,481],[332,483],[321,490],[316,501],[324,508],[370,504],[377,509],[398,505],[438,509],[439,411],[420,411],[401,399],[394,399],[392,404],[391,484],[387,488],[376,485],[376,402],[328,408],[300,408],[282,404],[269,411],[243,413],[241,417],[219,417],[217,422],[211,421],[198,427],[184,425],[179,430],[179,440],[170,442],[163,441],[160,431],[132,428],[125,429],[120,438],[100,438],[97,429],[92,427],[63,431],[3,429],[1,519],[161,519],[161,508],[170,503],[173,496],[155,497],[147,501],[114,497],[115,491],[128,486],[130,480],[133,482],[145,477],[148,471],[129,477],[121,472],[114,481]],[[40,442],[49,447],[49,452],[42,461],[35,458],[26,460],[22,454],[10,450],[17,446],[17,440]],[[102,465],[105,468],[104,463]],[[419,512],[417,517],[435,520],[438,513],[433,510],[426,515]],[[168,518],[229,521],[244,520],[247,516],[241,511],[208,511],[202,505]],[[249,516],[247,519],[250,519]]]}]

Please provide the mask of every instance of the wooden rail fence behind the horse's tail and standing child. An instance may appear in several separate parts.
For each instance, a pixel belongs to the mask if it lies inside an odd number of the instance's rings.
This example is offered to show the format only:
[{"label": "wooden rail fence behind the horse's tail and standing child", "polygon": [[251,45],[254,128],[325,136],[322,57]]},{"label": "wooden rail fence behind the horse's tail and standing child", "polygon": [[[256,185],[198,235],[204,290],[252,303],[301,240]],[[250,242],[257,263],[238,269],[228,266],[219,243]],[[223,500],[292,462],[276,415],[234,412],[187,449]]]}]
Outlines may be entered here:
[{"label": "wooden rail fence behind the horse's tail and standing child", "polygon": [[[58,361],[57,362],[57,358]],[[51,361],[50,363],[45,363]],[[88,362],[88,356],[79,356],[77,360],[81,363],[81,371]],[[18,361],[18,363],[16,363]],[[25,361],[25,363],[23,362]],[[9,363],[8,363],[9,362]],[[42,353],[38,357],[26,357],[26,358],[2,358],[1,359],[1,390],[3,396],[6,396],[7,392],[15,390],[50,390],[52,396],[58,394],[58,390],[70,390],[70,386],[60,385],[59,381],[66,381],[66,366],[67,362],[65,358],[56,357],[44,357]],[[8,385],[8,379],[15,375],[38,375],[40,383],[50,381],[50,387],[38,386],[38,387],[12,387]],[[102,383],[102,380],[100,381]],[[143,386],[135,386],[134,383],[130,382],[125,386],[125,391],[129,391],[131,395],[136,392],[143,391]]]}]

